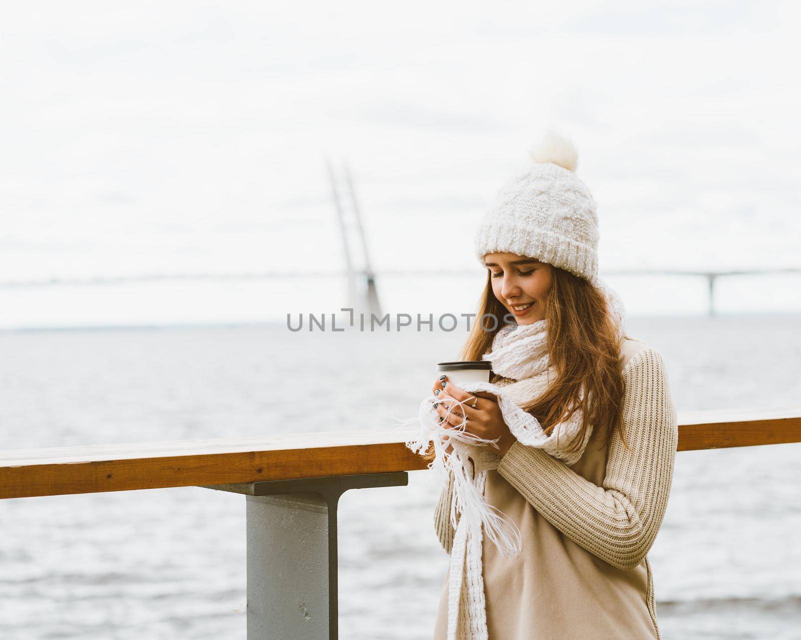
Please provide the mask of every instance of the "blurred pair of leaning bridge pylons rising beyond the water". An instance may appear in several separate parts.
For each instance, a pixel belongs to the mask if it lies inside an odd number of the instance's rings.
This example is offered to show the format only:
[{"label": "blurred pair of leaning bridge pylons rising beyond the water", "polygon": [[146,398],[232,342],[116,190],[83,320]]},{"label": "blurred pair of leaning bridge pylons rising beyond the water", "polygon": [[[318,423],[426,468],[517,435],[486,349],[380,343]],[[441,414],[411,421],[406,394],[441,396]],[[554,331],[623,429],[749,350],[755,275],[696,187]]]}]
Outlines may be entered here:
[{"label": "blurred pair of leaning bridge pylons rising beyond the water", "polygon": [[[344,250],[345,258],[345,277],[348,278],[348,305],[352,307],[354,314],[375,314],[380,318],[381,306],[376,288],[376,274],[372,270],[370,262],[367,237],[364,234],[364,223],[362,222],[351,171],[343,162],[344,186],[348,190],[348,198],[342,198],[340,197],[340,186],[330,158],[326,160],[326,165],[328,166],[328,178],[331,181],[334,210],[340,223],[342,249]],[[345,202],[348,202],[349,210],[346,210]],[[357,252],[352,248],[352,230],[356,230],[359,236],[359,241],[357,242],[360,242],[361,262],[363,265],[360,269],[354,267],[353,256]]]}]

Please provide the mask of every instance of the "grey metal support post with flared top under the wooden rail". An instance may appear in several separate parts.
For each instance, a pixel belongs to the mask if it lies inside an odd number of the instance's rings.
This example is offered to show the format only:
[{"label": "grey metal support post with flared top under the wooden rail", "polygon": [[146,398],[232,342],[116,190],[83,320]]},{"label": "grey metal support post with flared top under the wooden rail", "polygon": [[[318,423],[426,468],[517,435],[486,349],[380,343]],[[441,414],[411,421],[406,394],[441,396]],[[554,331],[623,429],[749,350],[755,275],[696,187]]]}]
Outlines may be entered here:
[{"label": "grey metal support post with flared top under the wooden rail", "polygon": [[206,485],[247,498],[248,640],[339,638],[340,495],[408,484],[399,471]]}]

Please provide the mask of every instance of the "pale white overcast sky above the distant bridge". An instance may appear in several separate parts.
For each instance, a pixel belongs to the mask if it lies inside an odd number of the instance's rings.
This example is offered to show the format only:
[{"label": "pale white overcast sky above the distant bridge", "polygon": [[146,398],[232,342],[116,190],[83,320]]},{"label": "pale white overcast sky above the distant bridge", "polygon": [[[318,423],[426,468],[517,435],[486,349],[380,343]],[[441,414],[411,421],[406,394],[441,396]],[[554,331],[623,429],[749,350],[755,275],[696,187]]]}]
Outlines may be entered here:
[{"label": "pale white overcast sky above the distant bridge", "polygon": [[[327,155],[377,270],[476,269],[473,230],[547,126],[578,147],[602,274],[801,266],[799,29],[796,2],[14,3],[0,280],[339,270]],[[799,277],[760,282],[801,310]],[[0,326],[340,302],[328,281],[181,287],[0,289]]]}]

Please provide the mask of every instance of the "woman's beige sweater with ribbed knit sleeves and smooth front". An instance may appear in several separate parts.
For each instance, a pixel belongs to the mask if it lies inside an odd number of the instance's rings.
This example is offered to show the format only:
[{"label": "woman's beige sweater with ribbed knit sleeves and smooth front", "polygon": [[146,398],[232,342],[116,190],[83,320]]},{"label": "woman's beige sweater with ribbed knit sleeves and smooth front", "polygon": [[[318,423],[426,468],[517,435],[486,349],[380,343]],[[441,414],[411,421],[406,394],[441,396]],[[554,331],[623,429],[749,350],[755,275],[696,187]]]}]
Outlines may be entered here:
[{"label": "woman's beige sweater with ribbed knit sleeves and smooth front", "polygon": [[[517,558],[484,540],[490,640],[660,638],[646,554],[662,524],[678,427],[664,362],[654,347],[625,338],[618,360],[625,390],[622,425],[608,445],[591,438],[573,466],[515,442],[488,472],[485,498],[514,520],[523,537]],[[499,382],[502,384],[502,382]],[[434,511],[450,553],[453,477]],[[445,638],[449,575],[442,585],[434,638]]]}]

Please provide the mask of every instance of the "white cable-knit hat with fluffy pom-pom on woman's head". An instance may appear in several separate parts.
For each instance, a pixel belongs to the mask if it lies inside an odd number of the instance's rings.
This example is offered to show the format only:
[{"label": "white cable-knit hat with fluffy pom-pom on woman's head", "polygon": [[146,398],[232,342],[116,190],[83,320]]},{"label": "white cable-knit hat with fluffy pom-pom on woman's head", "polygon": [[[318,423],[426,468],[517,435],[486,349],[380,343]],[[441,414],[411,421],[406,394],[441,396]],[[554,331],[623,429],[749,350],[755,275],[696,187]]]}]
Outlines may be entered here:
[{"label": "white cable-knit hat with fluffy pom-pom on woman's head", "polygon": [[529,152],[533,165],[497,194],[478,226],[475,251],[537,258],[594,284],[598,280],[595,200],[574,173],[573,143],[549,131]]}]

